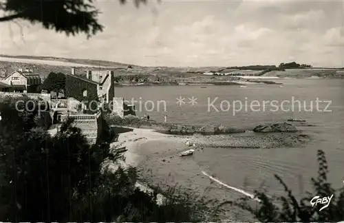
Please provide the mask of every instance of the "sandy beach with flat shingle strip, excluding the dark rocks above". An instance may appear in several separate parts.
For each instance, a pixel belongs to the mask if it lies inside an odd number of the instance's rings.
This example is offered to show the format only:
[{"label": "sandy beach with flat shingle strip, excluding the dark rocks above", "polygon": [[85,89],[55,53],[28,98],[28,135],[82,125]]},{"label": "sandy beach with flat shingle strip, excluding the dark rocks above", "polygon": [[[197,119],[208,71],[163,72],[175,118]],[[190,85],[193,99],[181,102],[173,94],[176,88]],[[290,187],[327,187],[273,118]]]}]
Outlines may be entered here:
[{"label": "sandy beach with flat shingle strip, excluding the dark rocks above", "polygon": [[[210,147],[228,149],[272,149],[278,147],[292,147],[292,143],[303,143],[300,136],[295,134],[243,134],[224,136],[178,136],[162,134],[154,129],[138,129],[128,127],[131,131],[120,133],[118,140],[111,143],[111,147],[125,147],[125,162],[122,167],[136,167],[138,183],[136,186],[145,192],[152,192],[152,188],[159,187],[162,191],[176,188],[181,193],[195,194],[195,198],[204,198],[221,203],[237,200],[243,196],[252,198],[252,191],[234,186],[230,182],[217,178],[212,167],[202,165],[204,151]],[[302,137],[301,137],[302,138]],[[188,147],[186,140],[195,148]],[[213,140],[213,142],[211,142]],[[299,141],[298,141],[299,140]],[[296,142],[298,141],[298,142]],[[257,147],[257,148],[253,148]],[[179,157],[178,153],[188,149],[195,149],[193,156]],[[230,150],[228,150],[230,153]],[[228,184],[226,184],[228,183]],[[164,197],[158,196],[158,203]],[[255,202],[255,201],[252,201]],[[238,221],[238,209],[233,207],[226,210],[224,219]],[[248,217],[247,215],[245,217]],[[239,221],[251,221],[242,219]]]}]

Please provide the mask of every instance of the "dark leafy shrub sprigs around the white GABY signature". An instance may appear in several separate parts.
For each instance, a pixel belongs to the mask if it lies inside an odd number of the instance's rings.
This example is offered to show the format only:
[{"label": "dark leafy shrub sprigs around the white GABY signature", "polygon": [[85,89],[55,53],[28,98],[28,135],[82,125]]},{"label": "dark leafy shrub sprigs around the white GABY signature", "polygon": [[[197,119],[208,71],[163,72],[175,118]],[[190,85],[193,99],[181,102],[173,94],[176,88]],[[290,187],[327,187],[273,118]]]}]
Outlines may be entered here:
[{"label": "dark leafy shrub sprigs around the white GABY signature", "polygon": [[[334,189],[327,182],[327,162],[325,153],[318,151],[319,170],[318,177],[312,178],[312,185],[315,193],[307,193],[305,198],[297,200],[292,191],[283,182],[283,180],[275,175],[275,178],[281,183],[287,195],[279,198],[270,198],[266,191],[255,191],[255,196],[261,200],[261,204],[257,208],[250,206],[249,198],[242,198],[234,204],[242,209],[249,211],[260,222],[339,222],[344,219],[344,187]],[[334,195],[330,205],[320,210],[319,206],[312,206],[310,201],[315,195],[320,198]]]}]

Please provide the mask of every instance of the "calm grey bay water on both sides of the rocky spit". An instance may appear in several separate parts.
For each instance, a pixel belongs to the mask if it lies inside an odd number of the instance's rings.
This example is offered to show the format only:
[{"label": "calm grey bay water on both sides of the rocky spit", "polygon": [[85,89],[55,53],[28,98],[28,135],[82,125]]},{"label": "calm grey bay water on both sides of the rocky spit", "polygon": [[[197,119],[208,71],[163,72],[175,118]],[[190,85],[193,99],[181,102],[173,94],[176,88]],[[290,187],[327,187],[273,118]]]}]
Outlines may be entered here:
[{"label": "calm grey bay water on both sides of the rocky spit", "polygon": [[[215,123],[252,129],[288,118],[307,120],[313,126],[298,126],[298,129],[312,137],[308,145],[275,149],[204,149],[195,161],[222,182],[250,193],[262,186],[272,195],[283,193],[283,187],[273,176],[276,173],[295,195],[302,195],[311,189],[310,178],[316,177],[318,167],[316,151],[322,149],[327,156],[330,182],[335,188],[344,186],[344,80],[281,78],[276,81],[283,83],[283,87],[120,87],[116,88],[116,96],[137,100],[134,104],[139,110],[138,116],[147,113],[153,120],[164,121],[166,115],[169,123]],[[177,103],[180,97],[184,98],[185,104]],[[194,100],[197,103],[191,105],[189,98],[197,98]],[[239,102],[233,105],[235,100],[241,101],[241,110]],[[273,105],[270,103],[272,100],[275,100]],[[316,105],[316,100],[319,105]]]}]

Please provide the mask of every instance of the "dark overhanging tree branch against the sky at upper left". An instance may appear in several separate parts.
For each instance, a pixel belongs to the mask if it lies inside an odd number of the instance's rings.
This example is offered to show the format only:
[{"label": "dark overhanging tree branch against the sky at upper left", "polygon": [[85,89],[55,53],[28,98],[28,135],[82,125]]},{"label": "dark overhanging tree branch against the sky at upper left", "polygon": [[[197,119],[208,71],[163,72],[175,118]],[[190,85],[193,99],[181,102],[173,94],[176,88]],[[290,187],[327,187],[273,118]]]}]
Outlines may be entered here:
[{"label": "dark overhanging tree branch against the sky at upper left", "polygon": [[[126,0],[119,0],[126,3]],[[136,6],[146,0],[135,0]],[[99,10],[94,0],[4,0],[0,10],[6,15],[0,22],[23,19],[31,23],[41,23],[48,30],[65,32],[67,36],[79,33],[87,38],[102,32],[103,25],[98,22]]]}]

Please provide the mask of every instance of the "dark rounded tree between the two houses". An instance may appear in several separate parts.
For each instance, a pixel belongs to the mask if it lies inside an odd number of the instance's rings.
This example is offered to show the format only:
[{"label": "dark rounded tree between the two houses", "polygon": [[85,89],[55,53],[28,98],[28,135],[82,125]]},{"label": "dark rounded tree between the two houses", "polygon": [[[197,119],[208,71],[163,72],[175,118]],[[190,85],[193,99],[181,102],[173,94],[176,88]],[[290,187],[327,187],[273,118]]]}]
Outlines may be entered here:
[{"label": "dark rounded tree between the two houses", "polygon": [[58,72],[50,72],[50,74],[45,79],[42,89],[47,89],[49,92],[54,91],[56,92],[56,97],[58,98],[58,94],[62,93],[65,95],[65,84],[66,84],[66,77],[65,74]]}]

